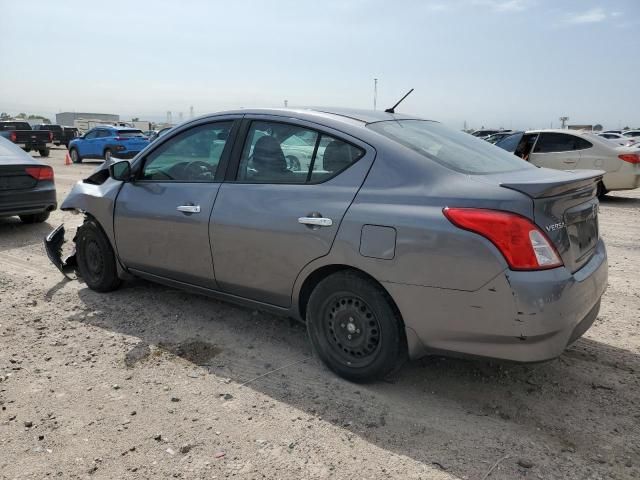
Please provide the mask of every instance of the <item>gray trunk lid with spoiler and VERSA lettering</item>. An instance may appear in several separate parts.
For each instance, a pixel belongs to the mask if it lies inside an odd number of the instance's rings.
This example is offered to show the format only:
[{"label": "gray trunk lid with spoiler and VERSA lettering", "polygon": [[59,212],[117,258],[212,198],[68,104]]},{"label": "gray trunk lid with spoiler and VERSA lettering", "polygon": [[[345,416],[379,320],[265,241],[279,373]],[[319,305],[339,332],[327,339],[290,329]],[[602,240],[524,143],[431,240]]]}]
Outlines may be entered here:
[{"label": "gray trunk lid with spoiler and VERSA lettering", "polygon": [[600,237],[597,190],[604,173],[540,168],[487,175],[485,179],[493,177],[501,187],[531,198],[532,220],[573,273],[591,259]]}]

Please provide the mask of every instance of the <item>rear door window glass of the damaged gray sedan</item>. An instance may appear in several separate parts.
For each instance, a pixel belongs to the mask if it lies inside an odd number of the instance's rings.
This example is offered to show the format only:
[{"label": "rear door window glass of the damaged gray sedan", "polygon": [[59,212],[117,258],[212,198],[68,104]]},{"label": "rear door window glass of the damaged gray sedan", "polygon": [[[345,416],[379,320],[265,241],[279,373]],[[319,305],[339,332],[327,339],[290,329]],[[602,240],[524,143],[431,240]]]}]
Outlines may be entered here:
[{"label": "rear door window glass of the damaged gray sedan", "polygon": [[364,156],[364,150],[299,125],[251,123],[240,159],[238,181],[316,183],[327,180]]}]

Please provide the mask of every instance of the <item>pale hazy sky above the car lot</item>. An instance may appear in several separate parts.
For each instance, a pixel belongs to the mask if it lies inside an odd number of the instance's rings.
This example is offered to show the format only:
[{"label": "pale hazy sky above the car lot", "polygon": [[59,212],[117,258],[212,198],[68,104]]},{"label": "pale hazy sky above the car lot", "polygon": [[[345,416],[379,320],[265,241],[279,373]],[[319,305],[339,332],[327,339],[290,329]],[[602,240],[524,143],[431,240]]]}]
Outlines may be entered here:
[{"label": "pale hazy sky above the car lot", "polygon": [[0,111],[400,109],[640,126],[640,0],[0,0]]}]

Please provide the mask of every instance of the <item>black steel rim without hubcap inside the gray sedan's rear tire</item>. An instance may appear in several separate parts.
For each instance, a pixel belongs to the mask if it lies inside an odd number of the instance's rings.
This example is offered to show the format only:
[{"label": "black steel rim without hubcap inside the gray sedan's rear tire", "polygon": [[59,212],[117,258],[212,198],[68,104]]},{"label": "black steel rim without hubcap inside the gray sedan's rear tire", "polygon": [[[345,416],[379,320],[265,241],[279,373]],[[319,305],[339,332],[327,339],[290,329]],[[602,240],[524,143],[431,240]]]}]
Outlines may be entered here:
[{"label": "black steel rim without hubcap inside the gray sedan's rear tire", "polygon": [[364,367],[376,358],[380,324],[364,300],[337,294],[327,300],[323,313],[326,339],[337,360],[350,367]]}]

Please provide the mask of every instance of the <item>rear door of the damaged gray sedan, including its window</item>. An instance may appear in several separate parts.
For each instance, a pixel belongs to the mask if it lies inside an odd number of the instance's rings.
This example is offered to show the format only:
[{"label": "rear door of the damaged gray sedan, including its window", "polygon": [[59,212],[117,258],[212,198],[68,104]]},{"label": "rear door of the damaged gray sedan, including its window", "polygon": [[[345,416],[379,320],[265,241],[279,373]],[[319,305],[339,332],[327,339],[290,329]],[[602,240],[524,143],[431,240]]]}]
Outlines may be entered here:
[{"label": "rear door of the damaged gray sedan, including its window", "polygon": [[221,186],[213,210],[220,288],[288,307],[303,267],[329,253],[374,155],[355,139],[304,122],[253,120],[237,174]]}]

